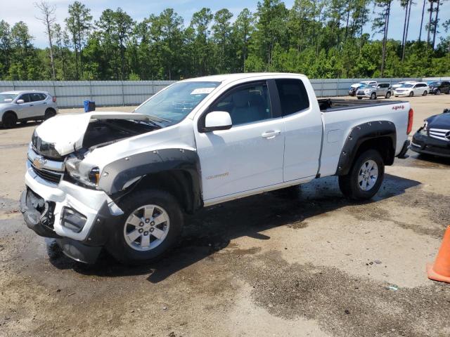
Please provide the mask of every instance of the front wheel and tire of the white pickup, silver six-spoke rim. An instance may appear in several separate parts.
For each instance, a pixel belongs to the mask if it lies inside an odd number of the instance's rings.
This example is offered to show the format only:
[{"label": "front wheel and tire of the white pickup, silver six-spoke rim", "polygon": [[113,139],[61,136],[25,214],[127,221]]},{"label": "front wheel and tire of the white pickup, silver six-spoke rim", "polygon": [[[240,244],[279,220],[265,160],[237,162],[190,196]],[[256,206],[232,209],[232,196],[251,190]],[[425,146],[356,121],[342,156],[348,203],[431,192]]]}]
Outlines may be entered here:
[{"label": "front wheel and tire of the white pickup, silver six-spoke rim", "polygon": [[[149,213],[151,217],[140,223],[136,222],[140,218],[139,215],[144,218],[146,216],[144,212],[150,209],[150,207],[144,208],[143,206],[150,205],[154,206],[151,214]],[[124,211],[124,215],[115,225],[105,248],[121,263],[139,265],[160,258],[172,248],[181,234],[183,212],[176,198],[168,192],[162,190],[136,191],[124,198],[119,206]],[[159,216],[165,216],[162,219],[166,220],[155,224],[158,221],[153,221],[153,219],[158,219],[158,213]],[[133,221],[134,217],[136,217],[134,220],[136,225],[129,222]],[[162,240],[151,234],[152,232],[156,233],[157,229],[158,235],[163,235],[162,232],[165,232]],[[132,240],[136,235],[139,236]],[[145,244],[143,244],[144,237],[148,237]],[[146,246],[147,243],[149,246]]]}]

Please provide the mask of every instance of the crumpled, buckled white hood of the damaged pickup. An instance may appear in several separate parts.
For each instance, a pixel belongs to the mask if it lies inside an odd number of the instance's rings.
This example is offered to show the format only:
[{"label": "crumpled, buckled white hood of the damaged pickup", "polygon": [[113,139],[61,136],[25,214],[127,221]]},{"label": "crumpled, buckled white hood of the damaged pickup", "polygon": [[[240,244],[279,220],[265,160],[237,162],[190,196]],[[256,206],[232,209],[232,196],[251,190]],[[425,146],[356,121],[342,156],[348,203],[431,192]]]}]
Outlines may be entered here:
[{"label": "crumpled, buckled white hood of the damaged pickup", "polygon": [[79,150],[83,144],[84,133],[92,119],[129,119],[146,121],[146,114],[131,112],[89,112],[85,114],[58,114],[44,121],[36,128],[36,134],[46,143],[52,143],[55,150],[65,156]]}]

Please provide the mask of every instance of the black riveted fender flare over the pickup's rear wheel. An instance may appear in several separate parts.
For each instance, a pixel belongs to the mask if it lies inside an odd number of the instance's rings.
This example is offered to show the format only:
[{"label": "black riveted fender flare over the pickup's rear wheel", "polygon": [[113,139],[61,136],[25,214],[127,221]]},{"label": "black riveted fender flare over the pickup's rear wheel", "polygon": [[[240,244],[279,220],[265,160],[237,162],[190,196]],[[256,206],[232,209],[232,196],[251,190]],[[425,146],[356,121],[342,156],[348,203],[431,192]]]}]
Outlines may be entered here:
[{"label": "black riveted fender flare over the pickup's rear wheel", "polygon": [[[392,162],[394,160],[395,147],[397,143],[397,130],[392,121],[369,121],[364,124],[359,124],[352,128],[347,140],[345,140],[344,147],[340,154],[338,169],[336,171],[337,176],[345,176],[352,168],[356,153],[358,153],[361,144],[367,140],[376,138],[387,137],[392,140]],[[392,162],[388,161],[387,165],[392,165]]]}]

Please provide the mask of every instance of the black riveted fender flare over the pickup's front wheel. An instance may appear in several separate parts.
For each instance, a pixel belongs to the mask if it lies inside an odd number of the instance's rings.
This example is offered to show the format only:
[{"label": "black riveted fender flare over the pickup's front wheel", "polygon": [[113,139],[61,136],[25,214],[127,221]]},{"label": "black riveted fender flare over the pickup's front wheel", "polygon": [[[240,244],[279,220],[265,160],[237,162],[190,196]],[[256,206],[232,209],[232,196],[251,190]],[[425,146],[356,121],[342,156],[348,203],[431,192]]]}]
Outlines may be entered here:
[{"label": "black riveted fender flare over the pickup's front wheel", "polygon": [[183,191],[186,211],[193,212],[203,206],[200,159],[195,150],[184,148],[160,149],[133,154],[106,165],[98,186],[107,194],[117,194],[124,184],[138,177],[154,173],[175,174],[176,184]]}]

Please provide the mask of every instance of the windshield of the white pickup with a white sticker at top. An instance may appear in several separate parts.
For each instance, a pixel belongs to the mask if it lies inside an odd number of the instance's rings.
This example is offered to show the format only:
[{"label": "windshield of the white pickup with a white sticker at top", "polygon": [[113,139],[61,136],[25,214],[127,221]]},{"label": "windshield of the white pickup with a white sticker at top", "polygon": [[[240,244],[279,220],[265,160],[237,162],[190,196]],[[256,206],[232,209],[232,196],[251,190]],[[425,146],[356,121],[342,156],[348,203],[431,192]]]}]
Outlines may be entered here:
[{"label": "windshield of the white pickup with a white sticker at top", "polygon": [[209,95],[220,82],[187,81],[178,82],[160,91],[135,112],[156,117],[162,124],[176,124]]}]

